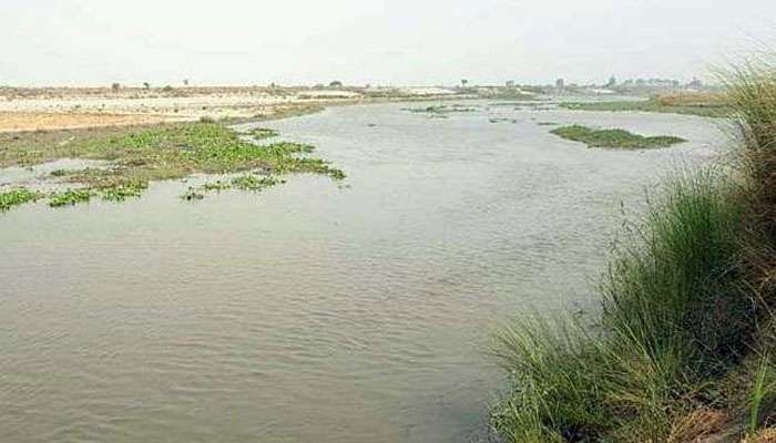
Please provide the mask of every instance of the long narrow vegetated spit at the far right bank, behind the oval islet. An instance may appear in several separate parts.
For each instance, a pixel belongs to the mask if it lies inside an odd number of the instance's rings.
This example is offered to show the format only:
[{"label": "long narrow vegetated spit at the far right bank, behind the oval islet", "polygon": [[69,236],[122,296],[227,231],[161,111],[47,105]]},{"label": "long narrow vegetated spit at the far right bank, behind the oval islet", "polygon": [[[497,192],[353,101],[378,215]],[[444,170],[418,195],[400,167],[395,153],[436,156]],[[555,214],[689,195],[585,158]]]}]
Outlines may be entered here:
[{"label": "long narrow vegetated spit at the far right bank, behind the oval islet", "polygon": [[704,117],[726,117],[733,112],[725,97],[717,94],[662,95],[643,101],[566,102],[560,106],[573,111],[658,112]]}]

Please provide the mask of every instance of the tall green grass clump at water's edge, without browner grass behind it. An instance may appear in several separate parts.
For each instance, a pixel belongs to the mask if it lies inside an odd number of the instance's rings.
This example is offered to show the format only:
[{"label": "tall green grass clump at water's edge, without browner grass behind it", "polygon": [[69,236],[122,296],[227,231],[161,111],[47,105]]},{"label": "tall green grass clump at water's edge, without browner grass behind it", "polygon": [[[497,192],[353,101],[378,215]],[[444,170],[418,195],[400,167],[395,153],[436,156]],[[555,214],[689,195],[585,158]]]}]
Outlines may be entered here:
[{"label": "tall green grass clump at water's edge, without browner grass behind it", "polygon": [[[752,311],[737,285],[744,207],[718,174],[666,186],[619,248],[598,324],[530,320],[499,334],[512,389],[494,426],[513,442],[662,442],[703,380],[741,352]],[[609,439],[609,440],[606,440]]]}]

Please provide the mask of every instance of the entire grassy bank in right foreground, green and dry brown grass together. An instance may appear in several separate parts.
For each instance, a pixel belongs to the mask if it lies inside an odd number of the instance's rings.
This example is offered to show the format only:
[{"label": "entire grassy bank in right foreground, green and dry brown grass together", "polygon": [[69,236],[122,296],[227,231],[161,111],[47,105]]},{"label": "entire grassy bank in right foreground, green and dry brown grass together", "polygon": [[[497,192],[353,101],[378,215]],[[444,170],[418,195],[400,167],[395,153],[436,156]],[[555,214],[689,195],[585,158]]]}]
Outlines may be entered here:
[{"label": "entire grassy bank in right foreground, green and dry brown grass together", "polygon": [[684,172],[617,243],[594,317],[497,333],[514,443],[776,441],[776,70],[727,79],[734,168]]}]

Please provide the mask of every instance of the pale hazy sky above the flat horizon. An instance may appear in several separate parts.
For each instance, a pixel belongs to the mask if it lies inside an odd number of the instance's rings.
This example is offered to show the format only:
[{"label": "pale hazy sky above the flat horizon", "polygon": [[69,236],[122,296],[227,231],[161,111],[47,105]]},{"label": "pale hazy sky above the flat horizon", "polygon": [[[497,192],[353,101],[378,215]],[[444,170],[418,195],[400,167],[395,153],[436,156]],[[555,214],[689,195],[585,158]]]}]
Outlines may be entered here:
[{"label": "pale hazy sky above the flat horizon", "polygon": [[688,80],[776,0],[0,0],[0,84]]}]

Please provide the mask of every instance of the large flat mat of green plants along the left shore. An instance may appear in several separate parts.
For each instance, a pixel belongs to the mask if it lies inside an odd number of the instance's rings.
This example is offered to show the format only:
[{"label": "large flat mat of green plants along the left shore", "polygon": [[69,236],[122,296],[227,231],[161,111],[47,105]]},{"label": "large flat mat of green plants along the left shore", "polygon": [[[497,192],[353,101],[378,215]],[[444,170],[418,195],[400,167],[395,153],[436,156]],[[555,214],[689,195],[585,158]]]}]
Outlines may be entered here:
[{"label": "large flat mat of green plants along the left shore", "polygon": [[[276,137],[278,133],[257,128],[247,135],[264,140]],[[321,174],[335,181],[346,177],[341,169],[328,162],[309,157],[314,150],[312,145],[283,141],[256,144],[213,122],[125,130],[67,143],[11,143],[0,148],[0,166],[32,166],[59,158],[101,159],[110,162],[110,166],[53,171],[51,178],[71,184],[73,188],[50,194],[25,188],[4,192],[0,194],[0,209],[41,198],[49,198],[52,207],[86,203],[95,196],[122,202],[140,197],[150,182],[197,173],[244,173],[246,175],[231,182],[228,187],[249,190],[283,183],[278,177],[294,173]],[[264,177],[256,178],[251,173]]]}]

